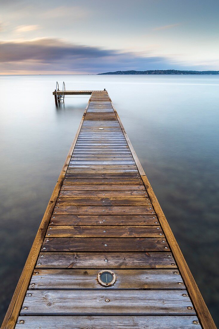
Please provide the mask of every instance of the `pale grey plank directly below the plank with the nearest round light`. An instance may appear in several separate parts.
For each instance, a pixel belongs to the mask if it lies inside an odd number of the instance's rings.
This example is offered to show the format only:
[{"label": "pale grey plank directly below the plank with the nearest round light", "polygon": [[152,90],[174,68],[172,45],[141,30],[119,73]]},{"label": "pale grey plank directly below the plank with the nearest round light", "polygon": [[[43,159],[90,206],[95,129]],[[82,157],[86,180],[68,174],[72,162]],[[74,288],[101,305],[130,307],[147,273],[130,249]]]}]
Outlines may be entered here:
[{"label": "pale grey plank directly below the plank with the nearest round light", "polygon": [[20,312],[21,316],[90,314],[191,316],[195,311],[186,291],[31,290],[27,291]]}]

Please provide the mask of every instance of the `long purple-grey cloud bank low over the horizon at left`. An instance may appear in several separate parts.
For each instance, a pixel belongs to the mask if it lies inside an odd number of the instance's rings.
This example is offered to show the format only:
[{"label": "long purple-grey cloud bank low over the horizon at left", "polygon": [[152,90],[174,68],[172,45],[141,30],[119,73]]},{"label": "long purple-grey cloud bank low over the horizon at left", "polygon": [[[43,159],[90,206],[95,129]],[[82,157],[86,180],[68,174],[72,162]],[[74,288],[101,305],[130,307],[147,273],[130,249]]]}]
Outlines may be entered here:
[{"label": "long purple-grey cloud bank low over the horizon at left", "polygon": [[169,68],[164,57],[140,56],[55,38],[0,42],[0,71],[101,73],[112,70]]}]

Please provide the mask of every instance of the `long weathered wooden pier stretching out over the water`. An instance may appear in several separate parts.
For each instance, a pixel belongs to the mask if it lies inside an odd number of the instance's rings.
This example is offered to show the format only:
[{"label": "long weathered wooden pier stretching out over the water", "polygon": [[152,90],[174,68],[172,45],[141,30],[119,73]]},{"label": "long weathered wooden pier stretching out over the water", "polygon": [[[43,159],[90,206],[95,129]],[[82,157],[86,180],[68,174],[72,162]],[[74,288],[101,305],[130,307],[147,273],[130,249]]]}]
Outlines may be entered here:
[{"label": "long weathered wooden pier stretching out over the water", "polygon": [[91,96],[1,328],[215,329],[107,91],[76,93]]}]

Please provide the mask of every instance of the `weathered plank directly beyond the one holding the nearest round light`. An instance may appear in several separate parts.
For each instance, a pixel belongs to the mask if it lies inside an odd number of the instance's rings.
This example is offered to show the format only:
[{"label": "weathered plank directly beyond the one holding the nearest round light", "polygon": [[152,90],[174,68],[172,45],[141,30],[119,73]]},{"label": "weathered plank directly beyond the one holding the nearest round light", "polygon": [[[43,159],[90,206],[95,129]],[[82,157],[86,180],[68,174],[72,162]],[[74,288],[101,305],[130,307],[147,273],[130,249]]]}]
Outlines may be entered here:
[{"label": "weathered plank directly beyond the one holding the nearest round light", "polygon": [[112,253],[105,251],[100,253],[43,252],[39,255],[36,268],[100,268],[114,270],[116,268],[175,269],[177,266],[170,252]]}]

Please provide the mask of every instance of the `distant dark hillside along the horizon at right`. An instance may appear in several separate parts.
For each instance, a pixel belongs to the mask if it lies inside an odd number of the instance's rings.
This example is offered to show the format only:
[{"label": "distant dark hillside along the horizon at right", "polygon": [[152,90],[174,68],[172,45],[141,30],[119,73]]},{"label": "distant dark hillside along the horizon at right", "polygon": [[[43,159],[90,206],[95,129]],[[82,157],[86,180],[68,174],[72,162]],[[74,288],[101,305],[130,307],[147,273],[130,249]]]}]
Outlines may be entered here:
[{"label": "distant dark hillside along the horizon at right", "polygon": [[219,74],[219,71],[181,71],[181,70],[148,70],[148,71],[116,71],[98,74]]}]

